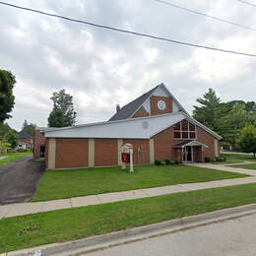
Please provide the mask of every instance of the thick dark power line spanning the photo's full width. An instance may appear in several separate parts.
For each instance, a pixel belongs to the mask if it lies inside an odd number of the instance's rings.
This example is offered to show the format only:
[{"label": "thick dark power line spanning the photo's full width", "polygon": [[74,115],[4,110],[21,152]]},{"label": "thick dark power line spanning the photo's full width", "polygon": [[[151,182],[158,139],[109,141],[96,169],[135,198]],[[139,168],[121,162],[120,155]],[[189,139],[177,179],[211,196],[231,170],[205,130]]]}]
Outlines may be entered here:
[{"label": "thick dark power line spanning the photo's full width", "polygon": [[133,35],[137,35],[137,36],[148,37],[148,38],[152,38],[152,39],[157,39],[157,40],[162,40],[162,41],[177,43],[177,44],[181,44],[181,45],[197,47],[197,48],[203,48],[203,49],[207,49],[207,50],[215,50],[215,51],[221,51],[221,52],[232,53],[232,54],[237,54],[237,55],[256,57],[256,54],[252,54],[252,53],[222,49],[222,48],[211,47],[211,46],[206,46],[206,45],[201,45],[201,44],[195,44],[195,43],[190,43],[190,42],[185,42],[185,41],[179,41],[179,40],[164,38],[164,37],[160,37],[160,36],[153,35],[153,34],[148,34],[148,33],[126,31],[126,30],[122,30],[122,29],[109,27],[109,26],[98,25],[98,24],[91,23],[91,22],[85,22],[85,21],[82,21],[82,20],[76,20],[76,19],[65,17],[65,16],[45,13],[45,12],[42,12],[42,11],[39,11],[39,10],[35,10],[35,9],[27,8],[27,7],[22,7],[22,6],[18,6],[18,5],[13,5],[13,4],[5,3],[5,2],[2,2],[2,1],[0,1],[0,4],[5,5],[5,6],[9,6],[9,7],[13,7],[13,8],[17,8],[17,9],[21,9],[21,10],[25,10],[25,11],[30,11],[30,12],[45,15],[45,16],[49,16],[49,17],[55,17],[55,18],[63,19],[63,20],[69,21],[69,22],[75,22],[75,23],[89,25],[89,26],[99,28],[99,29],[105,29],[105,30],[114,31],[114,32],[124,32],[124,33],[129,33],[129,34],[133,34]]}]

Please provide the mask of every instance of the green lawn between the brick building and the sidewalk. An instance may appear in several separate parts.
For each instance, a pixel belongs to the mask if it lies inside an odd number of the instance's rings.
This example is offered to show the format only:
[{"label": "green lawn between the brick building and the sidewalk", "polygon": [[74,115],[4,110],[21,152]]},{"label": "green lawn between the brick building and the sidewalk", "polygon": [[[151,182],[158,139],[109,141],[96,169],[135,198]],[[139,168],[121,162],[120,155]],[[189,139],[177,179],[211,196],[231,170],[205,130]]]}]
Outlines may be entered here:
[{"label": "green lawn between the brick building and the sidewalk", "polygon": [[135,166],[134,169],[134,173],[123,171],[120,167],[46,171],[32,201],[246,176],[186,165],[145,165]]}]

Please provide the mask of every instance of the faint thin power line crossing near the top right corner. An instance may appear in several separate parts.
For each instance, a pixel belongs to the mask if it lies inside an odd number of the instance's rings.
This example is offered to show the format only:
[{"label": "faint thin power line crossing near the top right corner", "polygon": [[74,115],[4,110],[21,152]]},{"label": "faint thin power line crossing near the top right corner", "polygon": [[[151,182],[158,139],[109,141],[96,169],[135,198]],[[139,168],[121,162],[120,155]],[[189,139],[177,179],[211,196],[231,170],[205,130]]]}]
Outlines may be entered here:
[{"label": "faint thin power line crossing near the top right corner", "polygon": [[[253,29],[251,27],[248,27],[248,26],[244,26],[244,25],[241,25],[241,24],[237,24],[237,23],[233,23],[233,22],[229,22],[227,20],[224,20],[222,18],[218,18],[218,17],[215,17],[215,16],[211,16],[211,15],[208,15],[208,14],[204,14],[204,13],[201,13],[201,12],[198,12],[198,11],[195,11],[195,10],[192,10],[192,9],[188,9],[188,8],[185,8],[185,7],[182,7],[182,6],[179,6],[179,5],[175,5],[175,4],[172,4],[170,2],[166,2],[166,1],[162,1],[162,0],[155,0],[156,2],[159,2],[161,4],[164,4],[164,5],[168,5],[168,6],[171,6],[171,7],[174,7],[174,8],[177,8],[177,9],[181,9],[183,11],[186,11],[186,12],[189,12],[189,13],[192,13],[192,14],[196,14],[196,15],[201,15],[201,16],[204,16],[204,17],[207,17],[207,18],[211,18],[213,20],[216,20],[216,21],[219,21],[219,22],[223,22],[223,23],[226,23],[226,24],[229,24],[229,25],[232,25],[232,26],[236,26],[238,28],[241,28],[241,29],[244,29],[244,30],[249,30],[249,31],[254,31],[256,32],[256,29]],[[239,1],[239,0],[237,0]],[[242,1],[242,0],[240,0]],[[242,1],[243,2],[243,1]]]}]

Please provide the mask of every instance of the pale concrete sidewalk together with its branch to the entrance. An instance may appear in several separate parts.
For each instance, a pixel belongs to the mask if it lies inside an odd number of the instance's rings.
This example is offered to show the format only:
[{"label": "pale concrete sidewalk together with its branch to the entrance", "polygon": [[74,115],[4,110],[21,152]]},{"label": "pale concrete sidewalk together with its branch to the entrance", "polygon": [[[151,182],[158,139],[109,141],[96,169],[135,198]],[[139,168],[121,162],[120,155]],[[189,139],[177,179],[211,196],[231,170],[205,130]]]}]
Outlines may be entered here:
[{"label": "pale concrete sidewalk together with its branch to the entrance", "polygon": [[239,172],[251,175],[245,178],[233,178],[224,180],[215,180],[208,182],[177,184],[172,186],[163,186],[155,188],[136,189],[123,192],[105,193],[92,196],[74,197],[69,199],[52,200],[46,202],[23,203],[0,206],[0,219],[14,216],[23,216],[41,212],[55,211],[60,209],[69,209],[74,207],[85,207],[89,205],[98,205],[104,203],[125,201],[131,199],[139,199],[146,197],[154,197],[178,192],[186,192],[200,189],[225,187],[232,185],[241,185],[248,183],[256,183],[256,170],[232,168],[224,165],[216,165],[210,163],[192,163],[199,167],[208,167],[221,169],[224,171]]}]

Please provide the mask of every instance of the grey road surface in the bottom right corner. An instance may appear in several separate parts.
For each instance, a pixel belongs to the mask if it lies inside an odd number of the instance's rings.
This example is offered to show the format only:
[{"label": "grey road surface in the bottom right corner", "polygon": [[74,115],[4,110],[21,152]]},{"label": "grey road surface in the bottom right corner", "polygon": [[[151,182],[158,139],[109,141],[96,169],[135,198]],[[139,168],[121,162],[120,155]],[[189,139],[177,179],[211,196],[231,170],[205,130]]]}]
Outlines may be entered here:
[{"label": "grey road surface in the bottom right corner", "polygon": [[252,256],[256,255],[256,214],[120,245],[90,256]]}]

